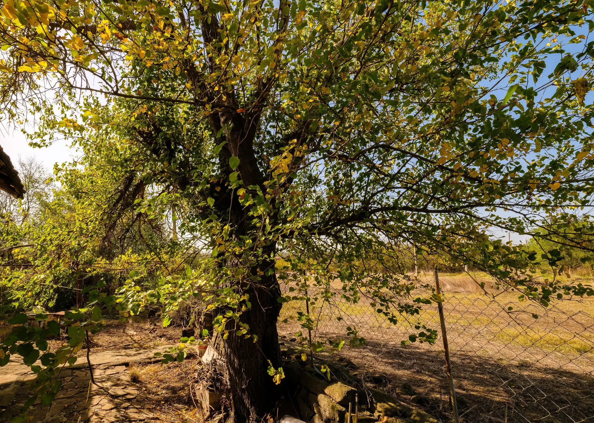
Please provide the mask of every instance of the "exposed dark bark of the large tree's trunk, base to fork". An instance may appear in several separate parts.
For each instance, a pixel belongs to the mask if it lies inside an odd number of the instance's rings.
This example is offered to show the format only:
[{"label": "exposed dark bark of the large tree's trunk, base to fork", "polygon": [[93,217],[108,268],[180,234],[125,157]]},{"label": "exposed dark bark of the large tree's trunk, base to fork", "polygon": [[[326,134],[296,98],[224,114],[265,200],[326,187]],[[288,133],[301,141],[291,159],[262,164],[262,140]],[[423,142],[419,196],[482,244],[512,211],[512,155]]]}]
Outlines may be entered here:
[{"label": "exposed dark bark of the large tree's trunk, base to fork", "polygon": [[[233,102],[233,97],[228,99]],[[236,107],[236,105],[233,105]],[[225,173],[233,170],[229,168],[229,158],[238,157],[239,165],[236,171],[240,172],[244,187],[259,185],[263,190],[264,173],[260,170],[257,158],[253,149],[255,128],[258,127],[259,114],[242,116],[241,113],[233,111],[222,111],[211,115],[211,125],[214,132],[220,128],[231,128],[222,135],[219,142],[227,141],[220,151],[219,163]],[[232,125],[230,125],[232,124]],[[258,233],[258,228],[252,227],[252,217],[247,215],[239,201],[233,199],[228,191],[223,189],[214,190],[211,195],[215,198],[214,207],[219,215],[229,219],[230,231],[236,239],[241,236]],[[223,187],[224,188],[224,187]],[[255,193],[254,193],[255,194]],[[274,216],[269,216],[274,220]],[[254,239],[254,242],[257,242]],[[273,412],[273,406],[279,397],[279,389],[273,383],[268,374],[268,361],[275,369],[282,366],[280,358],[279,337],[276,329],[277,320],[282,305],[277,301],[280,296],[280,286],[274,273],[274,256],[276,246],[274,244],[261,245],[263,248],[260,260],[254,264],[251,270],[252,276],[260,275],[259,279],[251,280],[246,285],[237,283],[242,293],[249,295],[251,308],[241,314],[240,320],[249,325],[249,333],[255,334],[258,338],[254,342],[252,338],[245,339],[244,336],[234,334],[235,322],[229,323],[229,336],[225,340],[225,355],[228,363],[231,402],[233,406],[233,418],[236,423],[262,421],[267,413]],[[229,259],[229,258],[228,258]],[[227,266],[242,265],[241,257],[238,263],[229,261]],[[271,270],[271,272],[266,272]],[[264,272],[264,274],[263,274]]]}]

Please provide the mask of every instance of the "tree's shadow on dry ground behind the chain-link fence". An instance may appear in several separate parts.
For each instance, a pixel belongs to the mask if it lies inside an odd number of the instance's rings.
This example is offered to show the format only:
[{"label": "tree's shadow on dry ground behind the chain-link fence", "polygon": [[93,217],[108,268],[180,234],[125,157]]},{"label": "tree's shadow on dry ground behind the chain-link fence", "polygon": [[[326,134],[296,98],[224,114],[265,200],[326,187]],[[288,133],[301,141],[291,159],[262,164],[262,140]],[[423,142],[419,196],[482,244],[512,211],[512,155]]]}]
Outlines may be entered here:
[{"label": "tree's shadow on dry ground behind the chain-link fence", "polygon": [[[324,333],[324,337],[332,336]],[[426,411],[442,421],[451,419],[443,350],[368,340],[365,346],[344,348],[340,355],[355,362],[358,375],[370,384],[382,379],[374,374],[386,375],[386,382],[378,387],[389,393],[403,396],[402,390],[396,390],[409,383],[418,394],[414,399],[425,402]],[[580,373],[575,367],[513,363],[462,352],[454,353],[451,361],[459,413],[466,421],[577,423],[594,416],[591,370]]]}]

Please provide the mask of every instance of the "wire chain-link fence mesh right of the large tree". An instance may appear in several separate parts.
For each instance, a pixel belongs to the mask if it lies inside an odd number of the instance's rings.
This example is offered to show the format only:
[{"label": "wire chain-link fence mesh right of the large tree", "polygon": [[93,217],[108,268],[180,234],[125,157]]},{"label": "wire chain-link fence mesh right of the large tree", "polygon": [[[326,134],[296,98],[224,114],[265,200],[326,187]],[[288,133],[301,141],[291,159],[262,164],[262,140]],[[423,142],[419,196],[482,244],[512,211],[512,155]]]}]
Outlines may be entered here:
[{"label": "wire chain-link fence mesh right of the large tree", "polygon": [[[432,274],[420,279],[432,282]],[[477,276],[440,274],[460,416],[470,422],[594,422],[594,301],[576,299],[544,308],[520,301],[513,289],[481,289]],[[480,281],[478,282],[485,282]],[[344,337],[347,327],[365,345],[340,352],[361,373],[409,383],[427,408],[447,419],[448,379],[441,336],[434,345],[408,343],[412,325],[439,329],[437,306],[412,320],[390,323],[371,301],[353,304],[336,289],[329,301],[310,307],[314,340]],[[279,332],[300,329],[293,318],[304,301],[284,305]],[[418,331],[417,331],[418,332]],[[381,377],[385,375],[386,378]]]}]

